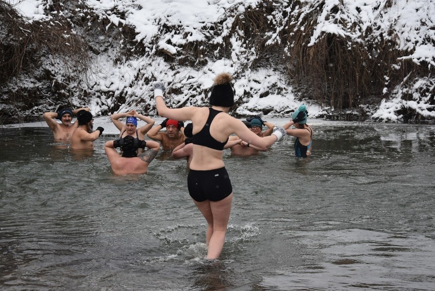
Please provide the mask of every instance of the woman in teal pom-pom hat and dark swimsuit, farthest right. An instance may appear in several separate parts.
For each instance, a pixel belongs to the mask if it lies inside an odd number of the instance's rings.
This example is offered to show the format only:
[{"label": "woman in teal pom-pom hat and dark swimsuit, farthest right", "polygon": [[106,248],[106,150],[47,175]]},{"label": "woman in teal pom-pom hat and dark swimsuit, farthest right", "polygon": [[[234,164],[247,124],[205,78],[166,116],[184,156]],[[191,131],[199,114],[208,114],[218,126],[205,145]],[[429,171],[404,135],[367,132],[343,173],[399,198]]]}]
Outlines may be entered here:
[{"label": "woman in teal pom-pom hat and dark swimsuit, farthest right", "polygon": [[[307,106],[302,104],[292,114],[292,120],[282,126],[286,129],[287,135],[296,137],[295,155],[298,158],[307,158],[308,155],[311,155],[312,128],[306,124],[307,117]],[[295,129],[289,129],[292,125]]]}]

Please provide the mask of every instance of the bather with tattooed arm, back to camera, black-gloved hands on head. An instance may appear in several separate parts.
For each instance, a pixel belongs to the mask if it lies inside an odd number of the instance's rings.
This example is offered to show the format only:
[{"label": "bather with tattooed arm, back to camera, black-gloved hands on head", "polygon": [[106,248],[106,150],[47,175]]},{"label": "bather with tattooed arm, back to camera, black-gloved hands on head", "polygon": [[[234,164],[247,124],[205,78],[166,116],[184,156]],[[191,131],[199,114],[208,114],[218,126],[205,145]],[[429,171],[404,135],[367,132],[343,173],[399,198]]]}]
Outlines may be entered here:
[{"label": "bather with tattooed arm, back to camera, black-gloved hands on head", "polygon": [[[117,147],[122,149],[122,156],[115,149]],[[141,148],[143,150],[145,147],[148,147],[148,150],[137,156],[137,149]],[[158,142],[137,140],[130,135],[118,140],[108,141],[104,145],[110,166],[116,175],[146,173],[148,165],[154,160],[159,149],[160,144]]]}]

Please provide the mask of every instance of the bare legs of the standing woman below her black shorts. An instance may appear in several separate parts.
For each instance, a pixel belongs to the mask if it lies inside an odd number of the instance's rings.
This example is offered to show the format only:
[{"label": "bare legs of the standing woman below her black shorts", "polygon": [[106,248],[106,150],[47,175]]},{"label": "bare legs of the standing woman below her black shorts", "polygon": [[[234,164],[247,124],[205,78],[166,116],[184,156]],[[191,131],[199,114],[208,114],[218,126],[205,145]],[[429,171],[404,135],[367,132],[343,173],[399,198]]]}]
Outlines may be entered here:
[{"label": "bare legs of the standing woman below her black shorts", "polygon": [[196,202],[194,200],[196,206],[201,211],[208,224],[206,235],[208,259],[219,258],[222,249],[224,248],[232,200],[233,193],[231,193],[228,197],[216,202],[209,200],[204,202]]}]

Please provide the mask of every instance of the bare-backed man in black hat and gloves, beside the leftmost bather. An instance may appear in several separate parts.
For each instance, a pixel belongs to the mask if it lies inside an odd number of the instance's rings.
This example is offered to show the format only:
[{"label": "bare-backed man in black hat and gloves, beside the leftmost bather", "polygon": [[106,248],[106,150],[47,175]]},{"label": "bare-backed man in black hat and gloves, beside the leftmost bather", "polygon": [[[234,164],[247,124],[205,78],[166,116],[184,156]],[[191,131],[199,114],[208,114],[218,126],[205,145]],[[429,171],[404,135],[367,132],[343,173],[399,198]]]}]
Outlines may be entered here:
[{"label": "bare-backed man in black hat and gloves, beside the leftmost bather", "polygon": [[77,115],[78,126],[72,132],[71,148],[93,149],[93,141],[101,136],[104,128],[99,126],[95,131],[90,132],[93,121],[92,114],[89,111],[83,110],[79,111]]}]

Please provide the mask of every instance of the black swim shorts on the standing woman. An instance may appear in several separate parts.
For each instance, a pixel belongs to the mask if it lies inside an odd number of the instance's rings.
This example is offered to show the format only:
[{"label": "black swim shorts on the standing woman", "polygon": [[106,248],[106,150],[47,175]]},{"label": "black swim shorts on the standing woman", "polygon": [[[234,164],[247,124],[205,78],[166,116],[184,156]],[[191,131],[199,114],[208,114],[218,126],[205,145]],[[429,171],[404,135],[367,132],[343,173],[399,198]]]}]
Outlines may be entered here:
[{"label": "black swim shorts on the standing woman", "polygon": [[187,175],[187,188],[192,199],[220,201],[233,192],[230,177],[225,167],[215,170],[190,170]]}]

